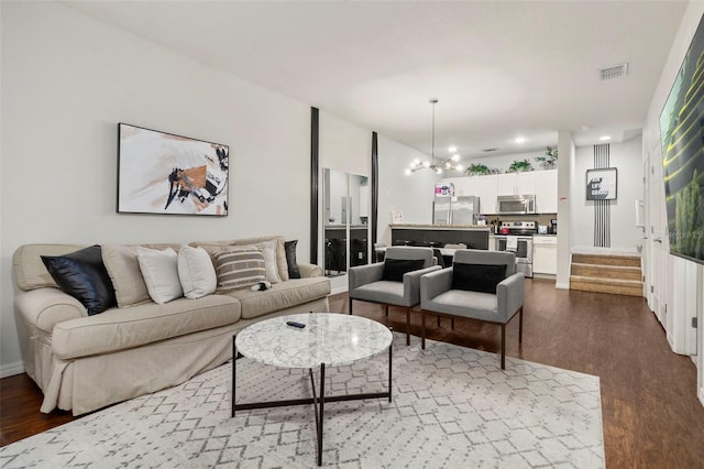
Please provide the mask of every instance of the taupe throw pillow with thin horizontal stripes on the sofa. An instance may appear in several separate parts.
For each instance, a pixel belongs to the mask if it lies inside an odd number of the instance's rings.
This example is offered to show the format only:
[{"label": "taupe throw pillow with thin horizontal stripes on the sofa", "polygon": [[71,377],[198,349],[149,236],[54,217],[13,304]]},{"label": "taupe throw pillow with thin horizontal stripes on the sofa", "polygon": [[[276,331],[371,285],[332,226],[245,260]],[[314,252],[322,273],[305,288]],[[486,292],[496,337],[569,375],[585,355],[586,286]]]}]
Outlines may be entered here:
[{"label": "taupe throw pillow with thin horizontal stripes on the sofa", "polygon": [[216,252],[218,290],[245,288],[266,280],[264,254],[258,249],[233,249]]}]

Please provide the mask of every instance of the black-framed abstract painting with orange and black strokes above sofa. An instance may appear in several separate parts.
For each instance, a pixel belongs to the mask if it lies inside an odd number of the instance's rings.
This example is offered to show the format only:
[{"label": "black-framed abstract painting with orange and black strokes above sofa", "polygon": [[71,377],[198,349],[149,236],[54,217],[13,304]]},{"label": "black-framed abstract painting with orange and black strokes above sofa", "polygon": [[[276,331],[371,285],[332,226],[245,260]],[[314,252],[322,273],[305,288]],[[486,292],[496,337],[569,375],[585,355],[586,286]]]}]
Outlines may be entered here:
[{"label": "black-framed abstract painting with orange and black strokes above sofa", "polygon": [[228,215],[228,145],[118,124],[118,212]]}]

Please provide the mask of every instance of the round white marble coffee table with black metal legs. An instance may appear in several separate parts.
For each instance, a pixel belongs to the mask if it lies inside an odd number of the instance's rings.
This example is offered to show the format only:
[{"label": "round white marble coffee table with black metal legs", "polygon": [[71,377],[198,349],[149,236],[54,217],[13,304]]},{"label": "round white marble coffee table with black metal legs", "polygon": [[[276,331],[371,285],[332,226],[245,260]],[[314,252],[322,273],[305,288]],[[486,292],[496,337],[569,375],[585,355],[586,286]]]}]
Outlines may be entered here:
[{"label": "round white marble coffee table with black metal legs", "polygon": [[[296,328],[288,321],[304,324]],[[337,313],[304,313],[265,319],[248,326],[232,338],[232,357],[244,356],[261,363],[309,370],[312,397],[235,403],[237,360],[232,360],[232,416],[235,411],[315,404],[318,430],[318,466],[322,466],[322,424],[326,402],[386,397],[392,401],[392,331],[375,320]],[[326,395],[326,367],[369,359],[388,349],[388,390],[385,392]],[[320,369],[319,394],[312,370]]]}]

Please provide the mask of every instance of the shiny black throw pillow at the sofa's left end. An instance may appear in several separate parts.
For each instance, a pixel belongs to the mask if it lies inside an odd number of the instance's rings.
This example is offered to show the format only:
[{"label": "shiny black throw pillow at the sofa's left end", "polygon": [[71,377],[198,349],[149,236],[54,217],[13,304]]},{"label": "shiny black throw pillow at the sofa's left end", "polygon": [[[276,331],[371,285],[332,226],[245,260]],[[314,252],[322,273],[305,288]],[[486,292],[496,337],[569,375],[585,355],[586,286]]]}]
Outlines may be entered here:
[{"label": "shiny black throw pillow at the sofa's left end", "polygon": [[54,282],[65,293],[78,299],[89,316],[118,305],[99,246],[66,255],[42,255],[42,262]]}]

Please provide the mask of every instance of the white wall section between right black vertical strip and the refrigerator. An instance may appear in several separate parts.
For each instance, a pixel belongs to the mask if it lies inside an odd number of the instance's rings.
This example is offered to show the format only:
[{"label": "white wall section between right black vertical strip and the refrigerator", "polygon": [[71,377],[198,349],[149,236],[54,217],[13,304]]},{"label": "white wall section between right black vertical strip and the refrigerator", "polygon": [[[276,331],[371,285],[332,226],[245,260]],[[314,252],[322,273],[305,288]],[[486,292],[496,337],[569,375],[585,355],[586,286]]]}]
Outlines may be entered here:
[{"label": "white wall section between right black vertical strip and the refrigerator", "polygon": [[432,199],[441,176],[430,170],[410,175],[404,171],[415,159],[427,154],[396,141],[378,137],[378,242],[392,246],[392,211],[404,214],[404,223],[432,223]]}]

